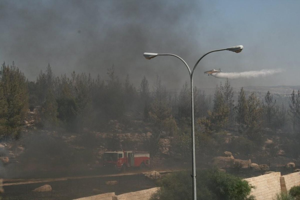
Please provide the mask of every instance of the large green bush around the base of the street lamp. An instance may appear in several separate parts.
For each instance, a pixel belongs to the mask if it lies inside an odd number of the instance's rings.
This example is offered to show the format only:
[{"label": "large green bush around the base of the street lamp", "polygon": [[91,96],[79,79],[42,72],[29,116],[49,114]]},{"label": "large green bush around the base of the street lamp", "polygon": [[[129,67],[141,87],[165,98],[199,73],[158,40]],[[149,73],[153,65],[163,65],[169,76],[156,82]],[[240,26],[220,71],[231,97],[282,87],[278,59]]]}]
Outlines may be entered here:
[{"label": "large green bush around the base of the street lamp", "polygon": [[[197,170],[197,199],[199,200],[245,200],[254,199],[249,196],[251,187],[247,181],[233,175],[220,172],[218,169]],[[184,200],[192,199],[192,181],[187,171],[175,172],[158,181],[161,187],[152,196],[155,199]]]}]

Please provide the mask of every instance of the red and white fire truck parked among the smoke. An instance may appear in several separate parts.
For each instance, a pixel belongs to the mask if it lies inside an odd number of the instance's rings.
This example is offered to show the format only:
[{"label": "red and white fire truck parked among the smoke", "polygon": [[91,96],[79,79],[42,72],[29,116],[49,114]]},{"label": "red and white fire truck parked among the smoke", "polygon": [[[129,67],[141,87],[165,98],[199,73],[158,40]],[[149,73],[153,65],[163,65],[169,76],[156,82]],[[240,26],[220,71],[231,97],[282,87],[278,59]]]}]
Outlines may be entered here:
[{"label": "red and white fire truck parked among the smoke", "polygon": [[133,153],[132,151],[107,151],[103,155],[103,166],[126,171],[127,168],[149,167],[149,153]]}]

